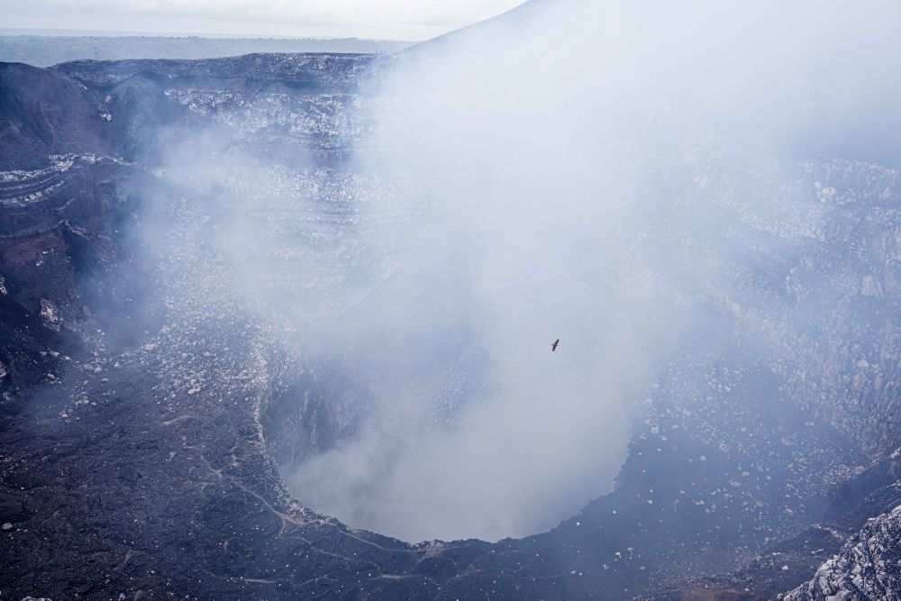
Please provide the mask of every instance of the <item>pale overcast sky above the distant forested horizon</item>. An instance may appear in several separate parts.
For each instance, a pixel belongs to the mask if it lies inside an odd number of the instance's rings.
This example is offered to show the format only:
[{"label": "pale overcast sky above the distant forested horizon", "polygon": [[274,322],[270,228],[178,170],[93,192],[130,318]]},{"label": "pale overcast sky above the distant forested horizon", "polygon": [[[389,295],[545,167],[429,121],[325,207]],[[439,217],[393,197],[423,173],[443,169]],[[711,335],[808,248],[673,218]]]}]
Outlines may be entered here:
[{"label": "pale overcast sky above the distant forested horizon", "polygon": [[0,0],[3,27],[427,40],[523,0]]}]

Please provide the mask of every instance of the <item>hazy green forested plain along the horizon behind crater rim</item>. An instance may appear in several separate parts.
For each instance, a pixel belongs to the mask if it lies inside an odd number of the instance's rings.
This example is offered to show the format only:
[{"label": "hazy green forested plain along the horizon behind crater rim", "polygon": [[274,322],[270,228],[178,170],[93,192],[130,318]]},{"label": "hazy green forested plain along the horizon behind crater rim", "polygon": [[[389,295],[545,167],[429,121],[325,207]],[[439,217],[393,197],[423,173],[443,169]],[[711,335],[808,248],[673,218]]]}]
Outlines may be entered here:
[{"label": "hazy green forested plain along the horizon behind crater rim", "polygon": [[0,62],[50,67],[78,59],[214,59],[254,52],[394,52],[412,42],[357,38],[204,38],[166,36],[0,36]]}]

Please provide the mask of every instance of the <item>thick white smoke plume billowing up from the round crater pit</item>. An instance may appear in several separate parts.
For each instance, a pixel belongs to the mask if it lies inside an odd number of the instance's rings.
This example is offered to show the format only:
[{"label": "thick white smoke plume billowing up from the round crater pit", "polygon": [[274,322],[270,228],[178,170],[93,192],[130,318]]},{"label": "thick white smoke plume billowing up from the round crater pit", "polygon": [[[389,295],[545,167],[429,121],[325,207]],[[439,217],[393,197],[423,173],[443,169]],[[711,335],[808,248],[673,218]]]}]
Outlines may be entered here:
[{"label": "thick white smoke plume billowing up from the round crater pit", "polygon": [[[722,256],[741,253],[692,246],[720,223],[673,205],[671,181],[689,164],[730,168],[726,144],[901,159],[899,10],[533,0],[384,60],[350,176],[311,165],[307,200],[292,201],[277,171],[278,193],[263,182],[214,215],[232,220],[235,279],[251,283],[236,292],[293,322],[297,346],[364,393],[352,440],[283,466],[291,491],[410,541],[540,532],[609,491],[630,404],[661,361],[714,335],[698,299],[733,292]],[[260,173],[176,160],[213,189]],[[244,218],[267,203],[314,214],[323,198],[352,205],[359,227],[317,232],[293,262],[272,260],[271,232]],[[731,202],[791,211],[766,200]],[[655,231],[692,252],[670,256]],[[335,268],[362,255],[359,272]],[[286,299],[295,280],[315,294]],[[757,292],[742,294],[764,302]]]}]

